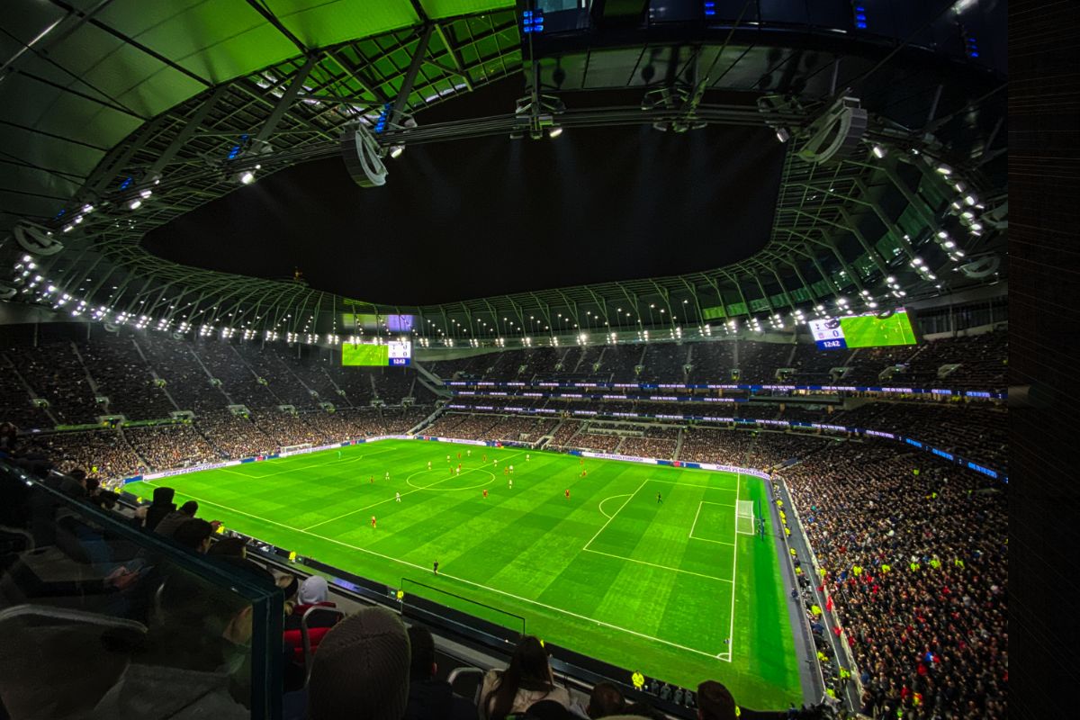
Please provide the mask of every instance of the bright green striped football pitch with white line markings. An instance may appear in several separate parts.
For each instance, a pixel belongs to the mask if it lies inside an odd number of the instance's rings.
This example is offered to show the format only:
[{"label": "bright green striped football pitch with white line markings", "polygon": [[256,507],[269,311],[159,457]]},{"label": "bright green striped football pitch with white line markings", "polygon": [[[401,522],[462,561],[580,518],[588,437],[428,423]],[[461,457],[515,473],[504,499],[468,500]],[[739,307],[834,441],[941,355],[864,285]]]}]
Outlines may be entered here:
[{"label": "bright green striped football pitch with white line markings", "polygon": [[124,489],[168,485],[229,529],[521,629],[459,597],[501,609],[531,635],[650,677],[720,680],[752,708],[801,703],[770,517],[765,539],[735,531],[737,500],[767,507],[762,480],[528,454],[381,440]]}]

